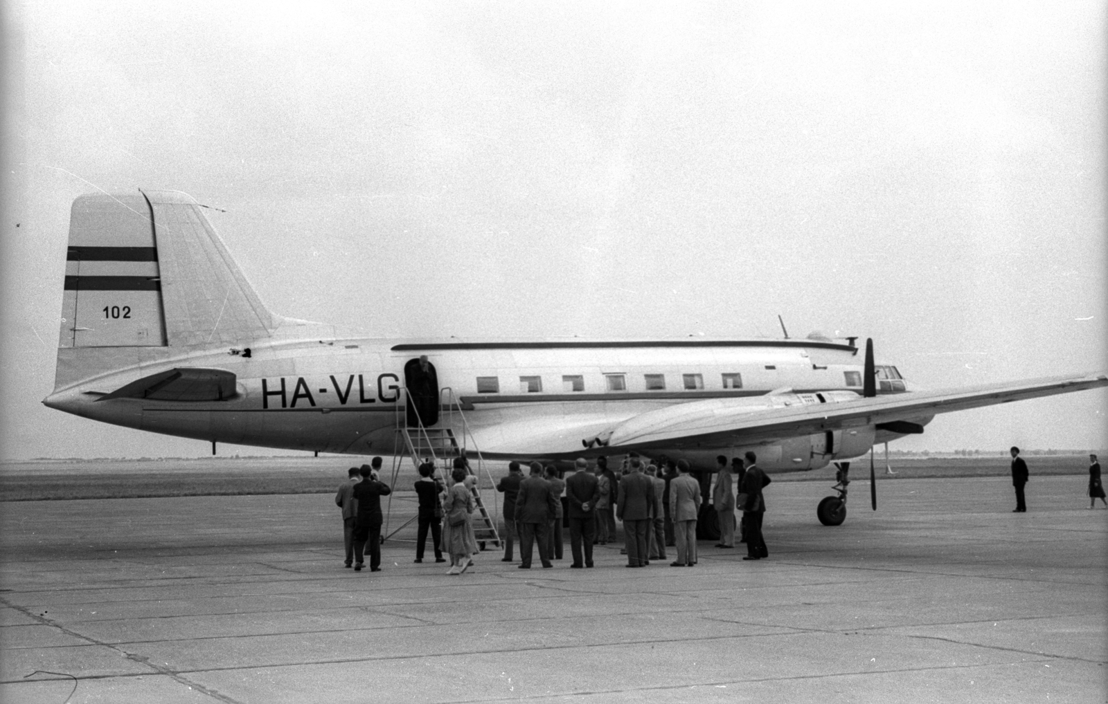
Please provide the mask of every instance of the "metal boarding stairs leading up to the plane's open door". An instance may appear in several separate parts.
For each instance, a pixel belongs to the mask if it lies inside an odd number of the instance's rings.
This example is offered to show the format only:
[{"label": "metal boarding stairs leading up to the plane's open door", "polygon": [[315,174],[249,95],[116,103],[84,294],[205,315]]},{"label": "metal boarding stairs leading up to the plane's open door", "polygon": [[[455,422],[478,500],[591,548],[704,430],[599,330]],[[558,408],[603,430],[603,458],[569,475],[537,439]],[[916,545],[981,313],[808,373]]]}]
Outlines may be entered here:
[{"label": "metal boarding stairs leading up to the plane's open door", "polygon": [[[393,446],[397,451],[403,451],[407,457],[411,459],[412,467],[419,472],[419,466],[424,462],[430,462],[435,466],[435,475],[445,480],[454,468],[455,457],[468,457],[473,456],[476,459],[478,468],[476,470],[470,466],[466,462],[466,473],[471,476],[476,477],[476,482],[472,483],[470,486],[470,493],[473,495],[473,503],[476,506],[476,513],[471,517],[473,521],[473,535],[478,540],[478,546],[484,550],[488,543],[500,548],[503,546],[501,542],[500,534],[496,530],[496,521],[499,516],[490,515],[489,509],[485,507],[485,503],[481,496],[481,475],[482,473],[488,477],[490,485],[492,483],[492,475],[484,467],[484,459],[481,457],[481,452],[476,447],[476,442],[473,439],[473,435],[470,433],[469,425],[465,422],[465,414],[462,411],[462,404],[459,402],[458,397],[454,395],[452,389],[444,387],[440,392],[440,402],[443,413],[440,414],[438,427],[425,427],[422,420],[419,418],[417,414],[417,425],[408,425],[408,414],[406,404],[412,403],[412,398],[408,393],[407,389],[401,389],[401,398],[404,403],[398,403],[396,410],[396,442]],[[455,433],[455,428],[460,433]],[[472,443],[472,453],[468,451],[466,438]],[[459,443],[461,439],[461,444]],[[400,470],[404,464],[404,457],[398,453],[393,454],[392,457],[392,482],[391,487],[393,494],[389,495],[389,515],[386,516],[384,534],[383,538],[388,539],[399,532],[401,529],[406,528],[408,525],[417,520],[417,517],[410,518],[404,521],[401,526],[397,527],[394,530],[389,532],[389,517],[392,513],[392,496],[396,493],[397,479],[400,475]],[[496,501],[493,500],[493,507],[495,510]]]}]

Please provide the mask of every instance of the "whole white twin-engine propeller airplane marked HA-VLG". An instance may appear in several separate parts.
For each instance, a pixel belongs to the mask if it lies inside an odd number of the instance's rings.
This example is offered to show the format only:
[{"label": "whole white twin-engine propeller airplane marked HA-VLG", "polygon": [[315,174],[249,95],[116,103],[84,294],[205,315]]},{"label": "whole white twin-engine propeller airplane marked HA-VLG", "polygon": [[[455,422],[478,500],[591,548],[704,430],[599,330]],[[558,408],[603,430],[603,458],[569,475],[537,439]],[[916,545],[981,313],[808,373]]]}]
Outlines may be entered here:
[{"label": "whole white twin-engine propeller airplane marked HA-VLG", "polygon": [[[392,340],[270,312],[191,196],[78,197],[53,392],[103,423],[274,448],[402,454],[399,428],[461,436],[484,459],[686,459],[769,473],[833,463],[824,525],[845,519],[850,460],[941,413],[1108,384],[1104,373],[925,391],[872,341]],[[470,446],[472,442],[472,447]],[[409,447],[409,452],[410,452]],[[414,453],[412,453],[414,454]]]}]

